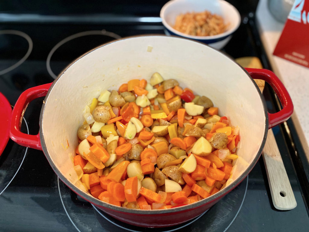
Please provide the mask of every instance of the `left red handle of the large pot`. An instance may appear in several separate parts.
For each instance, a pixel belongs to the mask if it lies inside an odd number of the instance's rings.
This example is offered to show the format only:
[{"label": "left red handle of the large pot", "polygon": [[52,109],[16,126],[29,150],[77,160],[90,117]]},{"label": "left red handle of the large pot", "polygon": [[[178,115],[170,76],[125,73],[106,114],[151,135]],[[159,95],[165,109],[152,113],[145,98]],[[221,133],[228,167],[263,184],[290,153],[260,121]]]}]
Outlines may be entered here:
[{"label": "left red handle of the large pot", "polygon": [[40,135],[28,135],[20,131],[23,115],[28,104],[36,98],[46,96],[52,83],[39,85],[25,90],[18,98],[12,111],[10,137],[17,144],[42,150]]}]

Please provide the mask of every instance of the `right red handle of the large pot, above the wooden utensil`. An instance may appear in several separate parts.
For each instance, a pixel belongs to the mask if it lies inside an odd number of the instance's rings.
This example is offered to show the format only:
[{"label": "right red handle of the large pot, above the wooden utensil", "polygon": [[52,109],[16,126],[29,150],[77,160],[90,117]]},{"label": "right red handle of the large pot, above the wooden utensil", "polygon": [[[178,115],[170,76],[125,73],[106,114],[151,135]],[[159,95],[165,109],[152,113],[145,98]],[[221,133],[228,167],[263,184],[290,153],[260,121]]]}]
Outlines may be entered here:
[{"label": "right red handle of the large pot, above the wooden utensil", "polygon": [[279,78],[267,69],[246,68],[246,70],[253,79],[265,80],[270,84],[281,102],[282,109],[279,112],[274,114],[268,112],[269,129],[289,119],[293,113],[294,106],[288,91]]}]

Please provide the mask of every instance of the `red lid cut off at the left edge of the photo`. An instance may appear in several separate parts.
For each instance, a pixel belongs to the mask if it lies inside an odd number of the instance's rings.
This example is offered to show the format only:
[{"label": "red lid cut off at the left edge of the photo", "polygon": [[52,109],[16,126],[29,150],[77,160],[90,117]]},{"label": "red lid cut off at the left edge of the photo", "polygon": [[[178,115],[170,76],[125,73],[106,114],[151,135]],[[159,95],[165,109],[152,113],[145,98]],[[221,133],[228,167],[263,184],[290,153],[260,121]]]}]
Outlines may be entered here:
[{"label": "red lid cut off at the left edge of the photo", "polygon": [[10,138],[10,118],[12,114],[11,104],[6,97],[0,92],[0,156]]}]

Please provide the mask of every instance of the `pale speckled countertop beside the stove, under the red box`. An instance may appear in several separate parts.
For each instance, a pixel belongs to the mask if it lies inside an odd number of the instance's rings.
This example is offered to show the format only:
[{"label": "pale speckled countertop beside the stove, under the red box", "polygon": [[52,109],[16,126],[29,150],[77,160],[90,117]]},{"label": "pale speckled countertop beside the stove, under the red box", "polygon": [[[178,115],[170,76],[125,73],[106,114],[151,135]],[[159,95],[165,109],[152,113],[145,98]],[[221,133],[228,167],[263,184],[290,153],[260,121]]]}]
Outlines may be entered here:
[{"label": "pale speckled countertop beside the stove, under the red box", "polygon": [[269,12],[267,0],[260,0],[256,10],[258,30],[273,72],[288,90],[294,105],[291,118],[309,161],[309,68],[273,55],[284,24]]}]

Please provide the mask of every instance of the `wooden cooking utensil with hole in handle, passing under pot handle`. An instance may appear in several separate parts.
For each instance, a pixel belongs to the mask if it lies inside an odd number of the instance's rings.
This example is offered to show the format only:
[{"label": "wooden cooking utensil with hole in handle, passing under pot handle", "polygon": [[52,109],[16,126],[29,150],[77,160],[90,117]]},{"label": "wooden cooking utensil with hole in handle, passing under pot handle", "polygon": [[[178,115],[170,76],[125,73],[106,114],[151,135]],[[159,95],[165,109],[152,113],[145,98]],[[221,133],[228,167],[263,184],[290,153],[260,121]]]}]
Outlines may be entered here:
[{"label": "wooden cooking utensil with hole in handle, passing under pot handle", "polygon": [[[235,61],[245,68],[263,68],[257,57],[241,57]],[[263,92],[265,81],[254,79]],[[262,152],[273,205],[279,210],[290,210],[297,206],[295,196],[286,174],[273,130],[269,130]]]}]

